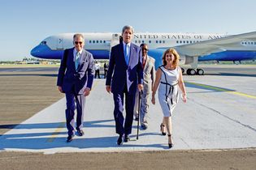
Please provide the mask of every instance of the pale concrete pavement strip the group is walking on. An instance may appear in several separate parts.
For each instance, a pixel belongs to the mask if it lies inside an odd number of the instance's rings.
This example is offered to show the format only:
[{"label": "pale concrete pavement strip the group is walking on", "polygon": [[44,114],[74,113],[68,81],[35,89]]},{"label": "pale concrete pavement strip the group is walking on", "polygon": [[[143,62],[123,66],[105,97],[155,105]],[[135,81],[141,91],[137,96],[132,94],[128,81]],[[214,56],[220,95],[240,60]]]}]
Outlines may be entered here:
[{"label": "pale concrete pavement strip the group is walking on", "polygon": [[[184,76],[188,101],[172,117],[171,150],[223,150],[256,147],[256,76],[209,74]],[[139,132],[133,121],[131,141],[116,145],[112,95],[105,79],[95,79],[85,104],[85,135],[67,143],[65,98],[0,136],[0,151],[62,152],[169,151],[160,134],[158,101],[150,104],[149,128]]]}]

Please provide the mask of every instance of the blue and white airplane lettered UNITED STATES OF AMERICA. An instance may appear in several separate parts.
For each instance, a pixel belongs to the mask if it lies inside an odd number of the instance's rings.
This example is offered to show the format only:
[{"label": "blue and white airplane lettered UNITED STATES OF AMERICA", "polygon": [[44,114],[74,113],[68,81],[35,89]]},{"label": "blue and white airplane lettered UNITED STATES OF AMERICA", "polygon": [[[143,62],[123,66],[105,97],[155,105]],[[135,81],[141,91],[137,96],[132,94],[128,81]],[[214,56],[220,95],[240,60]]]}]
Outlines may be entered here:
[{"label": "blue and white airplane lettered UNITED STATES OF AMERICA", "polygon": [[[61,59],[64,49],[73,47],[73,35],[63,33],[49,36],[31,50],[33,57]],[[85,49],[93,53],[94,59],[109,59],[111,47],[122,41],[120,33],[82,33],[85,36]],[[256,59],[256,32],[238,35],[198,34],[198,33],[134,33],[132,42],[146,43],[148,54],[155,59],[155,68],[162,65],[166,49],[174,48],[180,54],[180,65],[189,65],[186,73],[203,75],[197,67],[200,61],[232,61]],[[182,72],[184,73],[184,68]]]}]

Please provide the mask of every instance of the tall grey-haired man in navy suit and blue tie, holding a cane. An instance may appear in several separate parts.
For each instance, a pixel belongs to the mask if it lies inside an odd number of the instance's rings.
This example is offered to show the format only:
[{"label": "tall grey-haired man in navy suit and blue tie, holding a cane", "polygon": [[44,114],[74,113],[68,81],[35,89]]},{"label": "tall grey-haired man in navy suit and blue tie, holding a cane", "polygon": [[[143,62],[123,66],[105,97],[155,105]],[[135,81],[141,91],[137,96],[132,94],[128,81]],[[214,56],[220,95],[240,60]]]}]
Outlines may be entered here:
[{"label": "tall grey-haired man in navy suit and blue tie, holding a cane", "polygon": [[[133,28],[124,26],[123,42],[111,48],[111,58],[106,74],[106,91],[114,97],[115,130],[119,134],[117,144],[128,142],[132,132],[133,108],[137,88],[143,89],[143,69],[141,49],[131,43]],[[124,95],[126,117],[124,121]]]}]

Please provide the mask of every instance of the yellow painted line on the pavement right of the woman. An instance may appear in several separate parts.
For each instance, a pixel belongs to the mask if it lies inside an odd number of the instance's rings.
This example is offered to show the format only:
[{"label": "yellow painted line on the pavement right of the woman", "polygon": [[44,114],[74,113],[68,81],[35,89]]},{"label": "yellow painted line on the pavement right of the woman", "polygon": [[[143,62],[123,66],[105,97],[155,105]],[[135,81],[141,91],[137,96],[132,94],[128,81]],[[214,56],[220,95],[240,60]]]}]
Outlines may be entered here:
[{"label": "yellow painted line on the pavement right of the woman", "polygon": [[185,82],[185,83],[193,84],[193,85],[196,85],[196,86],[199,86],[199,87],[205,87],[205,88],[212,89],[212,90],[215,90],[215,91],[228,92],[232,95],[245,96],[245,97],[248,97],[248,98],[256,99],[256,96],[248,95],[248,94],[238,92],[238,91],[228,90],[228,89],[221,88],[221,87],[213,87],[213,86],[206,85],[206,84],[201,84],[201,83],[192,83],[192,82]]}]

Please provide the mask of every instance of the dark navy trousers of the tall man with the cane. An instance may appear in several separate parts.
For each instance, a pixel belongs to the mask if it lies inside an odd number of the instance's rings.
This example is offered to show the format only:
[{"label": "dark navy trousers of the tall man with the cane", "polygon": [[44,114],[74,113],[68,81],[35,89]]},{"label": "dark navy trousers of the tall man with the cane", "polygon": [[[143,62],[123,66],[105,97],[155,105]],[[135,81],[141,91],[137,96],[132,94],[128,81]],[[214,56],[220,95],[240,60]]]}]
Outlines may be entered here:
[{"label": "dark navy trousers of the tall man with the cane", "polygon": [[[126,89],[126,87],[125,87]],[[124,95],[125,95],[125,121],[124,121]],[[115,108],[115,132],[116,134],[131,134],[133,121],[133,108],[135,103],[135,94],[124,90],[121,93],[113,93]]]}]

